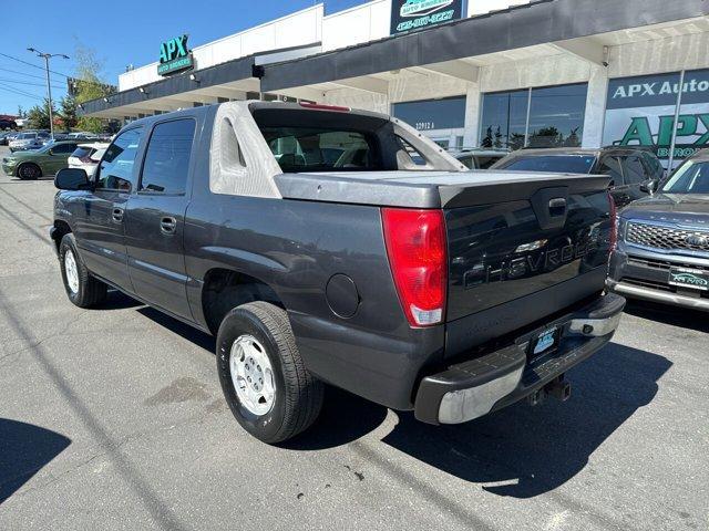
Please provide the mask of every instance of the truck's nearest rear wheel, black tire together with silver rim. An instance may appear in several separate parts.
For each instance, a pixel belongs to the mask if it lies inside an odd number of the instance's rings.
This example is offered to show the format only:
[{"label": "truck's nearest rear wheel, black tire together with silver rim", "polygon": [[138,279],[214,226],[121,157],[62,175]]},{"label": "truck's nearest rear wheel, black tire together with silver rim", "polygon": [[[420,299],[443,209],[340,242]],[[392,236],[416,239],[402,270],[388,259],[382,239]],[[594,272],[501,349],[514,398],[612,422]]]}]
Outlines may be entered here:
[{"label": "truck's nearest rear wheel, black tire together with silver rim", "polygon": [[249,302],[232,310],[219,326],[216,357],[226,402],[257,439],[282,442],[317,419],[323,385],[306,369],[281,308]]}]

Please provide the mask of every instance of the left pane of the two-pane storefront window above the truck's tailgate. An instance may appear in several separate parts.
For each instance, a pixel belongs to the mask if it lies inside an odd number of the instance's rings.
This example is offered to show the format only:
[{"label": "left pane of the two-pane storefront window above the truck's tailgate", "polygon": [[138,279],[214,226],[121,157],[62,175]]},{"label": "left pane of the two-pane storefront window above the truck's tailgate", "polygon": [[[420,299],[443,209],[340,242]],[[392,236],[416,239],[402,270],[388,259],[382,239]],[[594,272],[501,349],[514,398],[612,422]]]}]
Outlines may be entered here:
[{"label": "left pane of the two-pane storefront window above the truck's tailgate", "polygon": [[481,146],[524,147],[528,91],[500,92],[483,96]]}]

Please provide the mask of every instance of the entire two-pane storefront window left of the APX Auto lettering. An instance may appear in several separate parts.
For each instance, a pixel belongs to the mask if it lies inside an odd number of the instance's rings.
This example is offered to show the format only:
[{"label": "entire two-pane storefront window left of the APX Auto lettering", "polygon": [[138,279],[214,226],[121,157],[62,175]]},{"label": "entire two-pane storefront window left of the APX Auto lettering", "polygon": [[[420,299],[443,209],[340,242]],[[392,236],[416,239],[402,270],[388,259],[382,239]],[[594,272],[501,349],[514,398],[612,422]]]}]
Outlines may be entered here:
[{"label": "entire two-pane storefront window left of the APX Auto lettering", "polygon": [[587,91],[579,83],[484,94],[481,146],[580,146]]}]

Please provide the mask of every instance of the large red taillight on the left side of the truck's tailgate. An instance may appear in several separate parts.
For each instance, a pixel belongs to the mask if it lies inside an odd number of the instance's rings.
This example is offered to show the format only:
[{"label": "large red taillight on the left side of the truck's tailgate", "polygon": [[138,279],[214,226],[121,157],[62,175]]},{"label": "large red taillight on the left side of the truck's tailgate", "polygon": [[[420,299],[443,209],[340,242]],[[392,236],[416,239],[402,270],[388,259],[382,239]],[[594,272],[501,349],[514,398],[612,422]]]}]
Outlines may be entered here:
[{"label": "large red taillight on the left side of the truck's tailgate", "polygon": [[391,272],[411,326],[443,322],[448,260],[441,210],[382,209]]}]

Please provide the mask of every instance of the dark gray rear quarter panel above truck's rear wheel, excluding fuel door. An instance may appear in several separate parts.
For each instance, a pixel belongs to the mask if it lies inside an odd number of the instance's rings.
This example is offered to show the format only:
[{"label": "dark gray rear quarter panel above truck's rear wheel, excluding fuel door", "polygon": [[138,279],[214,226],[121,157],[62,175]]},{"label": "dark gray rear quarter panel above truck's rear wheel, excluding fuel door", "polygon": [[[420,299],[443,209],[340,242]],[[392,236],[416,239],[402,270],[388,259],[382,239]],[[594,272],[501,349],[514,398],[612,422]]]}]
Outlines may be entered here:
[{"label": "dark gray rear quarter panel above truck's rear wheel, excluding fuel door", "polygon": [[[442,356],[443,326],[412,330],[393,285],[377,207],[240,197],[201,189],[185,225],[188,298],[204,323],[202,288],[213,268],[254,277],[288,311],[307,367],[398,409],[412,407],[420,368]],[[352,279],[359,306],[337,316],[326,287]]]}]

